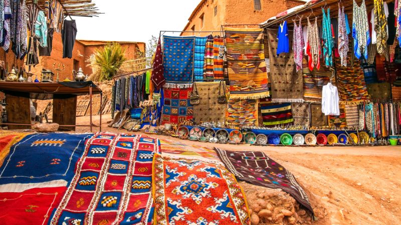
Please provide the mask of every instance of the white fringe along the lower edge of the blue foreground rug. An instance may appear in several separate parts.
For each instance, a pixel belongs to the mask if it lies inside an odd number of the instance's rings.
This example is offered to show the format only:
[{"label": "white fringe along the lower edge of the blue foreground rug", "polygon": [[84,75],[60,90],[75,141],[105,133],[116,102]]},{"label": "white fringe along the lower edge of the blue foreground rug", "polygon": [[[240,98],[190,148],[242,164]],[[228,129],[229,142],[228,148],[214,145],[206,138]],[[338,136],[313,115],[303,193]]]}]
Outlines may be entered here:
[{"label": "white fringe along the lower edge of the blue foreground rug", "polygon": [[67,181],[64,179],[56,179],[41,183],[7,183],[0,185],[0,192],[22,192],[36,187],[57,187],[67,186]]}]

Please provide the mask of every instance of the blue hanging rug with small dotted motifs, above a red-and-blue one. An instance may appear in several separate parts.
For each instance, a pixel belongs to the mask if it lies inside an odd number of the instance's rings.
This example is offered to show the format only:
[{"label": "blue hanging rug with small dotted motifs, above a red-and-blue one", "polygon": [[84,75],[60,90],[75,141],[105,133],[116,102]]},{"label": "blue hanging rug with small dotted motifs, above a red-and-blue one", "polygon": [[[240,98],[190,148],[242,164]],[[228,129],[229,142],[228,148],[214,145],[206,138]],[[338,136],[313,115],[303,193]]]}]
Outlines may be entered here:
[{"label": "blue hanging rug with small dotted motifs, above a red-and-blue one", "polygon": [[194,46],[194,36],[163,36],[164,87],[192,86]]}]

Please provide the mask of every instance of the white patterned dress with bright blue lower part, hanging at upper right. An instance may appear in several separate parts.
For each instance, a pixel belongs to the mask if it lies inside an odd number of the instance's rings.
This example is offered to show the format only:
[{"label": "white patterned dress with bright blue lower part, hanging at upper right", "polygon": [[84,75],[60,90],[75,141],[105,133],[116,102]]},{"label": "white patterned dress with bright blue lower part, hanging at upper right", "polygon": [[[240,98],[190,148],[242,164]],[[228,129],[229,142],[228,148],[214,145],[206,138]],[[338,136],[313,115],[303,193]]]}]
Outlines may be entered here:
[{"label": "white patterned dress with bright blue lower part, hanging at upper right", "polygon": [[354,54],[358,59],[360,59],[362,55],[367,58],[367,45],[370,43],[370,35],[365,0],[362,0],[360,6],[353,0],[352,15]]}]

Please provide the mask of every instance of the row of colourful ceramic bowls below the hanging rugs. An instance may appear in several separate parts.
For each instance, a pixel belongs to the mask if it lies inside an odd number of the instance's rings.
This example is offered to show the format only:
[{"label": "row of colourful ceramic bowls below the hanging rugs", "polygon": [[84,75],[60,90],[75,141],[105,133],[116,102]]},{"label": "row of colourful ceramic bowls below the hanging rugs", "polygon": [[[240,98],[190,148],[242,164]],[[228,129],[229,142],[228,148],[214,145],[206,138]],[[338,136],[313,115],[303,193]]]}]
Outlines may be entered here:
[{"label": "row of colourful ceramic bowls below the hanging rugs", "polygon": [[215,131],[213,128],[205,128],[204,130],[200,127],[193,127],[190,130],[186,126],[180,126],[176,132],[177,136],[183,139],[199,140],[202,142],[220,142],[220,143],[240,143],[244,141],[249,144],[283,144],[283,145],[325,145],[325,144],[347,144],[347,143],[358,143],[359,140],[368,143],[369,135],[361,131],[357,135],[356,133],[350,133],[349,138],[346,134],[341,133],[338,136],[334,133],[325,135],[324,133],[319,133],[316,136],[313,133],[307,133],[305,136],[297,133],[293,136],[289,133],[278,134],[258,134],[254,132],[246,132],[243,134],[240,130],[234,129],[228,132],[226,129],[219,129]]}]

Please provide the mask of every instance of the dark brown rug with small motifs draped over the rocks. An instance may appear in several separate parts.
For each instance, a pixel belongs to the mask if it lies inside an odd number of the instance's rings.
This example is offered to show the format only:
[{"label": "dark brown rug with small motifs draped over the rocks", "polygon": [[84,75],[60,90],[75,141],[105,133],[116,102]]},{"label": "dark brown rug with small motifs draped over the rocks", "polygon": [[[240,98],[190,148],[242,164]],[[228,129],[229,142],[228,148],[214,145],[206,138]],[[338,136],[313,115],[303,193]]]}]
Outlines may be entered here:
[{"label": "dark brown rug with small motifs draped over the rocks", "polygon": [[228,151],[215,148],[226,168],[238,179],[273,189],[282,189],[313,214],[309,198],[294,175],[262,151]]}]

